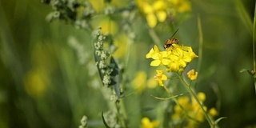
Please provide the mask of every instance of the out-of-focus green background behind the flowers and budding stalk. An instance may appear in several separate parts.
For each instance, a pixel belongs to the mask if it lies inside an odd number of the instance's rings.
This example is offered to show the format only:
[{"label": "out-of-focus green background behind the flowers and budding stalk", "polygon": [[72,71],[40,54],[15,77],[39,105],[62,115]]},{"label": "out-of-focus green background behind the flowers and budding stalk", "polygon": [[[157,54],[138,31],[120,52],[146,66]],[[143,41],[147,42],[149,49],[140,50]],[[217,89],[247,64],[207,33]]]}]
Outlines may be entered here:
[{"label": "out-of-focus green background behind the flowers and budding stalk", "polygon": [[[209,108],[220,103],[218,116],[227,117],[220,127],[256,127],[253,78],[239,72],[253,68],[254,5],[253,0],[193,0],[190,18],[176,26],[180,42],[198,53],[201,18],[203,55],[196,90],[206,93]],[[0,0],[0,127],[78,127],[82,115],[90,127],[102,127],[100,113],[108,108],[94,69],[91,33],[66,22],[46,22],[50,11],[39,0]],[[149,75],[155,70],[145,58],[153,46],[147,25],[136,18],[133,26],[138,40],[129,51],[130,81],[139,70]],[[173,33],[165,26],[155,29],[162,42]],[[150,94],[158,93],[148,89],[124,99],[131,126],[140,124],[138,109],[160,102]]]}]

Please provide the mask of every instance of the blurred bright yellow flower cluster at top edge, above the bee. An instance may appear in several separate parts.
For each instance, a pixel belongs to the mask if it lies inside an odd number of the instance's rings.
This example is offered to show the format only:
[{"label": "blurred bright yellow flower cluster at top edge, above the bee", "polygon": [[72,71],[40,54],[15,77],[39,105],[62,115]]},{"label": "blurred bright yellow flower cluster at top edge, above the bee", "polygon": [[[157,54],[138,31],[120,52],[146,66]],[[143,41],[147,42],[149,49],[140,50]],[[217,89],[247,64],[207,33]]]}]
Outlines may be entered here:
[{"label": "blurred bright yellow flower cluster at top edge, above the bee", "polygon": [[191,10],[188,0],[137,0],[136,2],[151,28],[154,28],[158,22],[166,21],[169,15],[174,17],[177,12],[186,13]]}]

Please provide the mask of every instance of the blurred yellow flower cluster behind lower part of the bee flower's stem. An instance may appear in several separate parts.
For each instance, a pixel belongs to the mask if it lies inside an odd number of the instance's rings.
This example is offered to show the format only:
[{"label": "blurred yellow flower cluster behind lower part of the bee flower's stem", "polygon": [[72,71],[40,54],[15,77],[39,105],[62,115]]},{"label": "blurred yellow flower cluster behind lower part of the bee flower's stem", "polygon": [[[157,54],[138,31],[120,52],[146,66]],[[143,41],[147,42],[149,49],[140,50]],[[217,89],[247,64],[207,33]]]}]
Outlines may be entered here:
[{"label": "blurred yellow flower cluster behind lower part of the bee flower's stem", "polygon": [[[206,100],[206,94],[199,92],[198,98],[200,102],[204,102]],[[199,123],[204,121],[204,112],[194,98],[190,99],[187,96],[182,96],[178,98],[178,104],[174,106],[174,114],[172,116],[172,119],[177,123],[186,122],[184,127],[189,128],[198,127]],[[207,111],[206,106],[203,106],[203,108]],[[212,117],[218,114],[215,108],[211,108],[207,113]]]}]

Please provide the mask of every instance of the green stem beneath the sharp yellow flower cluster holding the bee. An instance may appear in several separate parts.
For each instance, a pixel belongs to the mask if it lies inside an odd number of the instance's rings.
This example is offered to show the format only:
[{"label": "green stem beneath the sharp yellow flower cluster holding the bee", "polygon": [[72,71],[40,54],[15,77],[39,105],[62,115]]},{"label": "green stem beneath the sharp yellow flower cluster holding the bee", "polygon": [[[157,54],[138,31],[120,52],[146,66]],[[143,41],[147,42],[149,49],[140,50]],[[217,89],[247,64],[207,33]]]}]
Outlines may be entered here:
[{"label": "green stem beneath the sharp yellow flower cluster holding the bee", "polygon": [[180,78],[183,86],[185,86],[186,90],[190,92],[190,94],[192,95],[192,97],[195,99],[196,102],[198,102],[198,105],[200,106],[202,112],[205,114],[205,117],[210,125],[211,128],[214,128],[214,121],[210,118],[209,114],[207,114],[206,110],[203,108],[202,106],[202,102],[200,102],[197,94],[195,94],[194,90],[190,88],[190,85],[188,85],[184,78],[182,77],[182,75],[178,75],[178,77]]}]

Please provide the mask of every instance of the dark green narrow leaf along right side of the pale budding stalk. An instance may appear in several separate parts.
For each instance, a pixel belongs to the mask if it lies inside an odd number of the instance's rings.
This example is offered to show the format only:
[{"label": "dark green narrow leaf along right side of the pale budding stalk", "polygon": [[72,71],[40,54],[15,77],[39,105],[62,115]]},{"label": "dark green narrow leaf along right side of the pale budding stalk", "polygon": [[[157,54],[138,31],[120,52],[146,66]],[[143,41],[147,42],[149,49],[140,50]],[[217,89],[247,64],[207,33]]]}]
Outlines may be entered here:
[{"label": "dark green narrow leaf along right side of the pale budding stalk", "polygon": [[110,67],[113,69],[112,73],[110,74],[111,83],[110,86],[114,87],[114,92],[120,98],[121,91],[120,91],[120,72],[118,68],[117,62],[114,61],[114,58],[110,58]]}]

